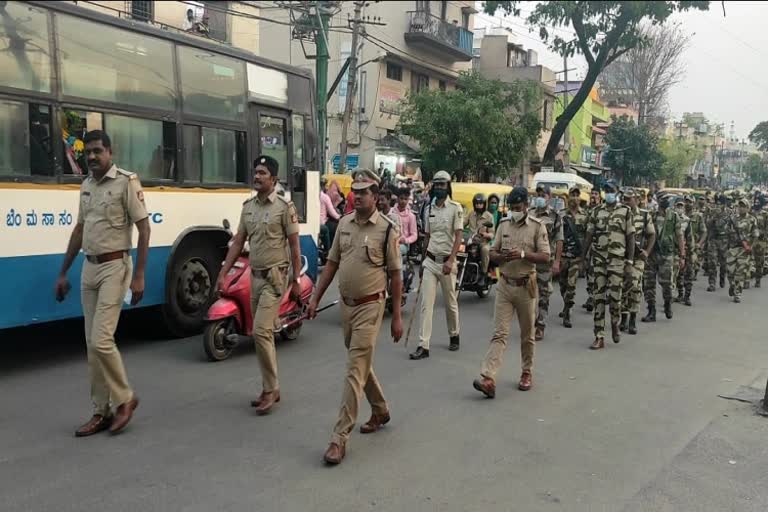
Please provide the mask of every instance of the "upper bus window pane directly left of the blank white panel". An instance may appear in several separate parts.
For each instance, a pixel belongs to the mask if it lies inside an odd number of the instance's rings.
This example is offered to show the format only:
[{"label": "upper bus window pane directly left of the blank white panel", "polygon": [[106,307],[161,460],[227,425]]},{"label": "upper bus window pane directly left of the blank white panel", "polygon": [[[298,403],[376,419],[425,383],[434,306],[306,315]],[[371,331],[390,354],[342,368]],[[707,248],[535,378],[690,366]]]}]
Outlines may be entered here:
[{"label": "upper bus window pane directly left of the blank white panel", "polygon": [[245,120],[245,62],[179,46],[179,70],[184,112]]}]

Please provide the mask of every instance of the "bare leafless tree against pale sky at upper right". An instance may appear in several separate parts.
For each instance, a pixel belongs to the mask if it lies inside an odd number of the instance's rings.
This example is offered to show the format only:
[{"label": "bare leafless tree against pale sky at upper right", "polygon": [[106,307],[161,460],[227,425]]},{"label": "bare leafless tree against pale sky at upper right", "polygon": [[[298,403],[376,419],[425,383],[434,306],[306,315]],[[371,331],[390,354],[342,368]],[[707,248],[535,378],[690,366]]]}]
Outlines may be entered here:
[{"label": "bare leafless tree against pale sky at upper right", "polygon": [[638,33],[644,43],[603,70],[600,92],[636,108],[639,124],[658,124],[665,117],[670,89],[683,78],[682,56],[691,38],[678,25],[645,24]]}]

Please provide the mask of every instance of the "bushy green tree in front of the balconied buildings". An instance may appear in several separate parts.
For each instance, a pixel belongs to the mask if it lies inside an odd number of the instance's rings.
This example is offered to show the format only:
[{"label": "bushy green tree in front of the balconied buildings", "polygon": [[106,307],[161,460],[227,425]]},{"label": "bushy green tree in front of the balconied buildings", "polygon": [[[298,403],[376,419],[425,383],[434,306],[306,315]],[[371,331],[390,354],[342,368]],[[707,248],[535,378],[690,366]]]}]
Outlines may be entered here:
[{"label": "bushy green tree in front of the balconied buildings", "polygon": [[409,94],[398,131],[419,142],[427,169],[444,169],[459,180],[467,171],[486,181],[505,177],[539,138],[538,97],[533,82],[462,73],[455,90]]}]

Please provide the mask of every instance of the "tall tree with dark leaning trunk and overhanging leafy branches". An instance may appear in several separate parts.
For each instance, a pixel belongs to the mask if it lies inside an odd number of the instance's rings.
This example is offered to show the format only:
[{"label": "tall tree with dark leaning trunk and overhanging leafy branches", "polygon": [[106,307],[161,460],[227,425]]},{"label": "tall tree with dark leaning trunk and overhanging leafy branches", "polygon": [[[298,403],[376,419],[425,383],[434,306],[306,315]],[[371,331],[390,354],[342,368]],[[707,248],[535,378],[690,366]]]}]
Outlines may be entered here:
[{"label": "tall tree with dark leaning trunk and overhanging leafy branches", "polygon": [[[494,14],[498,9],[519,16],[520,1],[488,1],[485,12]],[[641,23],[663,23],[675,11],[689,9],[708,10],[707,1],[569,1],[540,2],[528,15],[527,22],[538,27],[539,36],[550,49],[564,56],[581,53],[587,61],[587,75],[552,129],[544,151],[544,164],[553,165],[560,139],[565,128],[589,96],[600,73],[616,59],[644,42]],[[550,32],[551,26],[572,26],[576,37],[563,39]]]}]

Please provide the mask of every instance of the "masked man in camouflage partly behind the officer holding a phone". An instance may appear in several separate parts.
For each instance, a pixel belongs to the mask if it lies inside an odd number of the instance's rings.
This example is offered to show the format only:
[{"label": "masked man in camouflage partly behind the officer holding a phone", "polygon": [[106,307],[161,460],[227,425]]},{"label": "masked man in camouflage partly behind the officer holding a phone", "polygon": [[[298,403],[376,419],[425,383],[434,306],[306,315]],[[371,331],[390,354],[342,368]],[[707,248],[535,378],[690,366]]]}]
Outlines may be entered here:
[{"label": "masked man in camouflage partly behind the officer holding a phone", "polygon": [[551,191],[546,185],[536,187],[534,209],[531,216],[540,220],[547,228],[550,244],[550,261],[536,266],[536,284],[539,287],[539,304],[536,311],[536,341],[544,339],[549,316],[549,298],[552,295],[552,276],[560,274],[560,259],[563,255],[563,225],[558,211],[550,206]]}]

